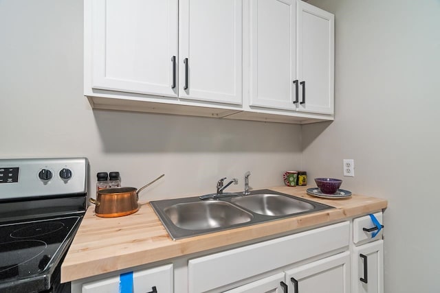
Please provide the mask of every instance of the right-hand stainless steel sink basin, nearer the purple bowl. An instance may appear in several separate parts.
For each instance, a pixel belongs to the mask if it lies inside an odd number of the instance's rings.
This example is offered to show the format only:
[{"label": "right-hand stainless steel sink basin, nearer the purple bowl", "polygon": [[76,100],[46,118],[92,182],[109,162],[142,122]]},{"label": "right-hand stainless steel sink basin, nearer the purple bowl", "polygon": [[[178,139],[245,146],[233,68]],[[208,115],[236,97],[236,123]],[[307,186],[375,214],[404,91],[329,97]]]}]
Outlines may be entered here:
[{"label": "right-hand stainless steel sink basin, nearer the purple bowl", "polygon": [[232,198],[231,202],[260,215],[289,215],[315,209],[309,202],[281,194],[252,194]]}]

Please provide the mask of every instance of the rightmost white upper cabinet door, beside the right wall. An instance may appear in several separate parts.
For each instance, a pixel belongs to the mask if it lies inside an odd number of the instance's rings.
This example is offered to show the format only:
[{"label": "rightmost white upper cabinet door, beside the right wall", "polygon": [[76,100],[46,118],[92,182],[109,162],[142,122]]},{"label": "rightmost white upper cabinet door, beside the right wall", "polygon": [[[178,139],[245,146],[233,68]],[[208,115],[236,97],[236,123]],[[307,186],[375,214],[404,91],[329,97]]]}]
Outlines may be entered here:
[{"label": "rightmost white upper cabinet door, beside the right wall", "polygon": [[334,16],[298,1],[298,111],[333,114]]}]

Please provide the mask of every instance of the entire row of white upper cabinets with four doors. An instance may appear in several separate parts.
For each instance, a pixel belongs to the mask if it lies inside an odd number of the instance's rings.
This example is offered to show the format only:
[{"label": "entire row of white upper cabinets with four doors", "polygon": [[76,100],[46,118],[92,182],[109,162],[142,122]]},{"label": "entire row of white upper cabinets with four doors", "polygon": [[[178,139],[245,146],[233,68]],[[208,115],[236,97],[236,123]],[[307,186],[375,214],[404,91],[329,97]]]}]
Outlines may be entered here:
[{"label": "entire row of white upper cabinets with four doors", "polygon": [[300,0],[84,0],[93,108],[333,120],[333,15]]}]

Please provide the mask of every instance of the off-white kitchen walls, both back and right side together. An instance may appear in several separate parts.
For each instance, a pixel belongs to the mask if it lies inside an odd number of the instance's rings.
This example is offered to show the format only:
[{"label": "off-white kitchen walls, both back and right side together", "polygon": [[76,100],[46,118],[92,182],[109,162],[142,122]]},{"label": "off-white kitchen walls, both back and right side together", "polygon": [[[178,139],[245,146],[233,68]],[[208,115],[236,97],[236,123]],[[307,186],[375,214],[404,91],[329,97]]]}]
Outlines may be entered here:
[{"label": "off-white kitchen walls, both back and right side together", "polygon": [[0,0],[0,157],[87,156],[92,184],[104,170],[135,187],[165,173],[146,200],[248,169],[254,188],[281,185],[285,169],[342,177],[355,159],[342,187],[389,200],[386,292],[437,292],[440,2],[310,2],[336,14],[336,121],[303,126],[301,145],[287,124],[93,111],[83,1]]}]

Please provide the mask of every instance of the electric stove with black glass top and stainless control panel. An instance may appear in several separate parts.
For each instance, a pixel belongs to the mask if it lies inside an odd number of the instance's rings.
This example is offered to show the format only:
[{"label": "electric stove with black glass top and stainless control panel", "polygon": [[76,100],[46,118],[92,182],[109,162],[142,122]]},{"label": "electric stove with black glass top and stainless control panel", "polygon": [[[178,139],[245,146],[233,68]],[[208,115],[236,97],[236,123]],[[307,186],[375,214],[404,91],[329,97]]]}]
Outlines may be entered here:
[{"label": "electric stove with black glass top and stainless control panel", "polygon": [[61,263],[87,207],[88,161],[0,159],[0,292],[70,292]]}]

